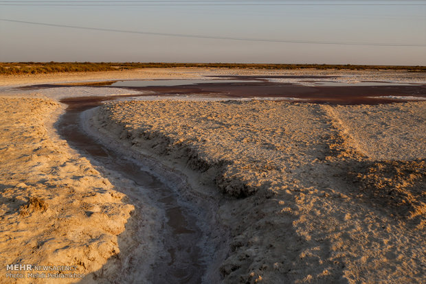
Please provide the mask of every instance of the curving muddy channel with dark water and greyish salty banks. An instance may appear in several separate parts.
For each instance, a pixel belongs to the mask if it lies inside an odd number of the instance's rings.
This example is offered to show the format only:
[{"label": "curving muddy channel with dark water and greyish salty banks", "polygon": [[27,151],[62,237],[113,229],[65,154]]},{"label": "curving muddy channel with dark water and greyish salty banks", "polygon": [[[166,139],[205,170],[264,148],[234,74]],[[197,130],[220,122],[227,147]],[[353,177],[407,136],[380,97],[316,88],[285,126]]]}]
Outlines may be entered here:
[{"label": "curving muddy channel with dark water and greyish salty banks", "polygon": [[[102,144],[82,130],[82,112],[98,106],[102,100],[111,99],[113,97],[61,100],[61,102],[68,104],[68,108],[57,127],[71,147],[85,153],[85,156],[92,163],[102,168],[101,172],[105,174],[113,171],[115,174],[124,176],[124,178],[135,183],[135,187],[138,189],[137,193],[124,189],[120,185],[120,181],[117,182],[116,186],[130,198],[129,201],[132,204],[135,204],[136,210],[139,210],[139,215],[144,214],[143,207],[146,202],[156,206],[157,211],[163,211],[160,214],[163,217],[149,220],[149,222],[158,223],[159,230],[156,232],[158,240],[153,240],[153,244],[144,241],[147,246],[154,247],[154,255],[151,255],[153,259],[147,260],[146,253],[141,251],[137,251],[137,253],[128,252],[133,259],[133,263],[125,267],[128,274],[140,270],[139,266],[145,263],[150,263],[150,271],[146,275],[140,275],[142,277],[140,279],[130,279],[134,281],[144,279],[152,281],[152,283],[201,283],[202,281],[209,283],[213,281],[212,277],[217,279],[218,276],[212,275],[208,275],[208,279],[203,279],[206,268],[210,265],[216,253],[214,246],[218,245],[217,240],[210,240],[207,236],[210,231],[214,230],[211,227],[214,220],[205,220],[208,216],[212,217],[212,213],[206,210],[213,207],[213,204],[203,207],[197,206],[197,202],[191,204],[188,198],[179,196],[177,191],[179,187],[188,187],[188,185],[184,181],[176,180],[177,177],[168,173],[166,168],[153,172],[152,161],[142,163],[143,160],[140,159],[136,161],[135,159],[125,158],[123,152],[115,152],[115,150],[109,149],[105,143]],[[85,120],[87,120],[87,117],[85,117]],[[144,170],[144,168],[151,170]],[[173,188],[170,186],[172,183],[174,183]],[[190,192],[189,189],[185,190],[186,193]],[[142,239],[136,238],[135,241],[142,241]],[[157,248],[155,248],[156,246]]]}]

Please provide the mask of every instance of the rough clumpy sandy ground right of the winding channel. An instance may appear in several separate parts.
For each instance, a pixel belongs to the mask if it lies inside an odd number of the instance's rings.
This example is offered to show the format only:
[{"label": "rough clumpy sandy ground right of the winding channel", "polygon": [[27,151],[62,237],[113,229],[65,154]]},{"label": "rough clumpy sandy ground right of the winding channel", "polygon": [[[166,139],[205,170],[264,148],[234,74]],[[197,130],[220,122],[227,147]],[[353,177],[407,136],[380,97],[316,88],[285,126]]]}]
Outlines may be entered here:
[{"label": "rough clumpy sandy ground right of the winding channel", "polygon": [[93,127],[227,196],[225,283],[422,283],[425,106],[113,102]]}]

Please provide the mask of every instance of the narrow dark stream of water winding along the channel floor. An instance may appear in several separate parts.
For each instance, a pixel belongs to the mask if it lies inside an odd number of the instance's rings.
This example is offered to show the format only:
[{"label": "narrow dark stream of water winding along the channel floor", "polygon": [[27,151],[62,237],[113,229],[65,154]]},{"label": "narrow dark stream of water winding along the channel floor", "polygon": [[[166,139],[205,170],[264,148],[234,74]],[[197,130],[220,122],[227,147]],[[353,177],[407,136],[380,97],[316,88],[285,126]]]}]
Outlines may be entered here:
[{"label": "narrow dark stream of water winding along the channel floor", "polygon": [[[102,104],[113,97],[83,97],[63,99],[68,104],[67,111],[58,122],[58,132],[74,149],[89,160],[102,165],[105,169],[133,180],[144,188],[147,194],[164,209],[167,221],[163,224],[162,235],[166,257],[159,257],[148,279],[153,283],[201,283],[205,272],[205,263],[201,248],[196,244],[202,237],[197,226],[195,213],[179,202],[177,193],[158,178],[141,169],[133,161],[126,160],[95,139],[87,136],[80,127],[82,111]],[[141,193],[142,194],[142,193]],[[141,259],[144,255],[139,255]],[[143,279],[141,279],[143,281]]]}]

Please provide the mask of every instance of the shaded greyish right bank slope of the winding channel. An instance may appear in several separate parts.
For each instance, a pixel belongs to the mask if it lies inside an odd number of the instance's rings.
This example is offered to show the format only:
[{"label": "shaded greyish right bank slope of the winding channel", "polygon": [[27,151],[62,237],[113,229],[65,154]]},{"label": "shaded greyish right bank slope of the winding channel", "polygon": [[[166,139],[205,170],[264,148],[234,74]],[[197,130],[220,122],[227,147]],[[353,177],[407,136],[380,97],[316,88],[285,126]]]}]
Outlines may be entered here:
[{"label": "shaded greyish right bank slope of the winding channel", "polygon": [[[131,141],[120,140],[122,128],[117,125],[109,129],[102,128],[99,120],[99,107],[82,113],[82,128],[102,145],[115,150],[139,165],[177,191],[180,202],[198,213],[197,225],[203,230],[201,246],[205,250],[207,271],[203,276],[206,283],[221,281],[219,268],[229,248],[229,232],[221,222],[218,203],[223,196],[216,188],[200,185],[199,172],[189,169],[182,161],[159,156],[144,147],[132,147]],[[203,187],[203,190],[200,190]],[[213,281],[213,282],[212,282]]]}]

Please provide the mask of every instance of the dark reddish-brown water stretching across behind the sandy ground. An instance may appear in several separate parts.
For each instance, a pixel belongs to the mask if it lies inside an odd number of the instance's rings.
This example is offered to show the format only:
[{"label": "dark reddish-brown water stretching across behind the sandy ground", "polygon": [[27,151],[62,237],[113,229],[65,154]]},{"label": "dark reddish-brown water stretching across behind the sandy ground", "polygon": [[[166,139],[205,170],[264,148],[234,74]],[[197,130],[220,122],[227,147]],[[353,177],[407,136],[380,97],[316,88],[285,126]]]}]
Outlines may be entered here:
[{"label": "dark reddish-brown water stretching across behind the sandy ground", "polygon": [[[219,77],[219,76],[216,76]],[[133,91],[150,91],[150,95],[158,96],[191,96],[203,95],[205,97],[229,97],[229,98],[250,98],[250,97],[275,97],[283,99],[286,97],[296,98],[294,102],[310,102],[318,104],[390,104],[393,102],[407,102],[410,99],[396,99],[383,96],[395,97],[426,97],[426,84],[381,84],[375,86],[357,86],[357,84],[347,84],[344,86],[304,86],[293,83],[267,82],[270,78],[307,78],[324,79],[328,76],[223,76],[232,78],[223,82],[220,80],[213,83],[199,82],[197,84],[182,84],[179,86],[162,86],[161,80],[157,81],[157,86],[133,86],[134,80],[129,80],[128,86],[93,86],[95,88],[126,88]],[[221,77],[222,78],[222,77]],[[238,81],[235,81],[238,79]],[[246,82],[245,82],[246,80]],[[252,82],[258,80],[259,82]],[[250,82],[251,81],[251,82]],[[126,81],[122,81],[126,82]],[[74,83],[73,86],[87,86],[87,83],[80,85]],[[23,88],[52,88],[69,87],[60,84],[41,84],[25,86]],[[131,97],[136,97],[132,95]],[[115,97],[113,97],[115,98]],[[298,100],[300,99],[300,100]]]}]

